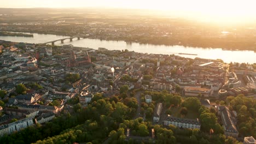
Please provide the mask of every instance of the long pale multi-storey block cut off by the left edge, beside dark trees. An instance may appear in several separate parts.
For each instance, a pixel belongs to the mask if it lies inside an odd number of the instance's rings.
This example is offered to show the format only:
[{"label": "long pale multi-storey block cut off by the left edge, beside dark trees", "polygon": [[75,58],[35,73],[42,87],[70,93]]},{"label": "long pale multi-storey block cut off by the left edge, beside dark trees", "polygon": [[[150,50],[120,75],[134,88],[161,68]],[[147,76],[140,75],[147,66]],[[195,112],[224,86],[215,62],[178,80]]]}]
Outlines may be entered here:
[{"label": "long pale multi-storey block cut off by the left edge, beside dark trees", "polygon": [[25,129],[30,125],[33,125],[32,118],[21,119],[20,121],[16,121],[9,124],[4,124],[0,126],[0,136],[9,135],[14,131],[20,131],[21,129]]}]

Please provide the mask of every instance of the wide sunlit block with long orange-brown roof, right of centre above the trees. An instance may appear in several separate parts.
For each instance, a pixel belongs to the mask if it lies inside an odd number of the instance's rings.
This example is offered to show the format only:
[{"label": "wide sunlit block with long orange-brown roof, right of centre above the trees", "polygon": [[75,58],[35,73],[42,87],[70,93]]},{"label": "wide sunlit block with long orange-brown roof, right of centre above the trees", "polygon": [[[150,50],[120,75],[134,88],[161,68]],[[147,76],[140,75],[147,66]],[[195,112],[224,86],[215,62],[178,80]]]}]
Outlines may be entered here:
[{"label": "wide sunlit block with long orange-brown roof, right of centre above the trees", "polygon": [[202,97],[209,97],[211,95],[211,89],[187,87],[187,88],[184,88],[184,93],[185,93],[185,96],[197,97],[199,94],[201,94]]}]

